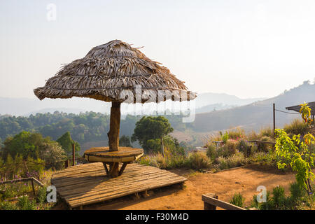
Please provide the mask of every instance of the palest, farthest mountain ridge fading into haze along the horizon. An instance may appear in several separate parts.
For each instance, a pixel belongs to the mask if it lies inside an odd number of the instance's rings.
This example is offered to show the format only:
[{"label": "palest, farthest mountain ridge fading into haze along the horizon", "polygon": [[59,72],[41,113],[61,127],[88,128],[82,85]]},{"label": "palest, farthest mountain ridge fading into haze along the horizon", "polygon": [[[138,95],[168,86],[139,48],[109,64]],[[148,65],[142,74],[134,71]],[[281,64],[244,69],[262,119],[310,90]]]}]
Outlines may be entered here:
[{"label": "palest, farthest mountain ridge fading into haze along the horizon", "polygon": [[[228,109],[234,106],[250,104],[263,98],[240,99],[239,97],[221,93],[197,94],[195,106],[197,113]],[[163,104],[163,103],[160,103]],[[12,116],[29,116],[36,113],[53,113],[54,111],[64,113],[80,113],[94,111],[99,113],[110,113],[111,104],[95,99],[78,98],[72,99],[29,99],[29,98],[4,98],[0,97],[0,115],[8,114]],[[212,106],[211,106],[212,105]],[[122,114],[130,113],[122,105]],[[150,106],[149,106],[150,108]],[[133,112],[133,111],[132,111]],[[147,111],[144,111],[146,113]]]}]

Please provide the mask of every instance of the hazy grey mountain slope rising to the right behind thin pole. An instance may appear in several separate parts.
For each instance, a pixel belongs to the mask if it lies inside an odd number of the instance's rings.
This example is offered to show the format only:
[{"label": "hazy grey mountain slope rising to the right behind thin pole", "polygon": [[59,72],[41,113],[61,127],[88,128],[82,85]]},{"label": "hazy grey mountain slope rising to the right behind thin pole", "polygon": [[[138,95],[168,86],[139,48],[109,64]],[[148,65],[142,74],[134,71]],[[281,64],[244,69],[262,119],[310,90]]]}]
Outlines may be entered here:
[{"label": "hazy grey mountain slope rising to the right behind thin pole", "polygon": [[[315,84],[304,82],[279,96],[254,102],[233,109],[196,114],[193,130],[195,132],[213,132],[231,127],[243,127],[245,130],[259,130],[272,127],[272,104],[276,109],[286,111],[287,106],[315,101]],[[286,111],[294,112],[294,111]],[[276,127],[283,127],[300,116],[276,111]]]}]

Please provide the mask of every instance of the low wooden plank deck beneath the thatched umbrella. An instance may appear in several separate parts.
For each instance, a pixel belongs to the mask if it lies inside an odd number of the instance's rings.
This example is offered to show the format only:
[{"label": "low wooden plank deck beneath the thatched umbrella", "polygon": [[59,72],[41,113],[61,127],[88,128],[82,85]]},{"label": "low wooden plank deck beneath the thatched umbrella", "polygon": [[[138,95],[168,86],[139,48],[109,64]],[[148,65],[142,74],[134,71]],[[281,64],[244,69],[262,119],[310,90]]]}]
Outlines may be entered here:
[{"label": "low wooden plank deck beneath the thatched umbrella", "polygon": [[125,195],[152,190],[187,179],[163,169],[130,164],[122,176],[110,179],[102,162],[69,167],[52,176],[51,183],[69,207],[103,202]]}]

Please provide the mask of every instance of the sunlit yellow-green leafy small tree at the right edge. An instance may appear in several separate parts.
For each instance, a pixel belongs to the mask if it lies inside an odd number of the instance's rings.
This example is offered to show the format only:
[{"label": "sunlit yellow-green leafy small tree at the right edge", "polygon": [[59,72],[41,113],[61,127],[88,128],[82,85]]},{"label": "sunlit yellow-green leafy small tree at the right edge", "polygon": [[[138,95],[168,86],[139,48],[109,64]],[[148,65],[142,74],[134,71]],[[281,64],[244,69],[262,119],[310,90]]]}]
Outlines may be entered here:
[{"label": "sunlit yellow-green leafy small tree at the right edge", "polygon": [[[311,109],[307,104],[301,104],[300,113],[304,123],[311,125]],[[312,134],[293,135],[292,139],[284,130],[275,130],[276,132],[276,155],[280,160],[277,162],[278,168],[283,169],[290,165],[294,172],[296,181],[310,195],[312,193],[311,181],[314,180],[314,174],[311,169],[314,167],[313,151],[315,138]]]}]

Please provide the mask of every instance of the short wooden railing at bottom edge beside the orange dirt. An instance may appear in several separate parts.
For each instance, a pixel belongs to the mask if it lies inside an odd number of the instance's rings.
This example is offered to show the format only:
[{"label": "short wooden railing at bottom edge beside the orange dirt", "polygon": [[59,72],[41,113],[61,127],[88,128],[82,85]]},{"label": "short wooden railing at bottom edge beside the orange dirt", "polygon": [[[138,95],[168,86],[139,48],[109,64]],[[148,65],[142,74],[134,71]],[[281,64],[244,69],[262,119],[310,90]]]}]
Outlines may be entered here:
[{"label": "short wooden railing at bottom edge beside the orange dirt", "polygon": [[204,210],[216,210],[216,207],[226,210],[246,210],[234,204],[218,200],[218,195],[214,193],[202,195],[202,201],[204,202]]}]

